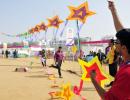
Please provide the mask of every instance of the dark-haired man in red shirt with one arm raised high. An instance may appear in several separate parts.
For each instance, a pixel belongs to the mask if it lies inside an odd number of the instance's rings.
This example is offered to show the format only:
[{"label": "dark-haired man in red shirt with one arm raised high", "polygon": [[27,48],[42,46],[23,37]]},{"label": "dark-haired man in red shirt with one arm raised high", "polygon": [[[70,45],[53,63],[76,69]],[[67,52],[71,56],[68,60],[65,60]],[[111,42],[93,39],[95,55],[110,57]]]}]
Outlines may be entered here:
[{"label": "dark-haired man in red shirt with one arm raised high", "polygon": [[114,3],[111,1],[108,3],[117,30],[116,50],[122,55],[124,62],[120,65],[115,80],[108,91],[105,91],[95,80],[95,71],[90,73],[90,77],[103,100],[130,100],[130,29],[124,28],[121,24]]}]

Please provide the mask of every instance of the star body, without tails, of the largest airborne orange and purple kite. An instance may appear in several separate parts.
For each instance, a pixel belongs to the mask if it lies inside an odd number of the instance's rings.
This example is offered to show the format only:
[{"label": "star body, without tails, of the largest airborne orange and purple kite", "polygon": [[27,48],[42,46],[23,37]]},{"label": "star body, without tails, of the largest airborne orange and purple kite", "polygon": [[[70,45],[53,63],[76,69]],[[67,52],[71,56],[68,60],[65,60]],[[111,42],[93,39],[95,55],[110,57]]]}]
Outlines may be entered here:
[{"label": "star body, without tails, of the largest airborne orange and purple kite", "polygon": [[81,4],[78,7],[69,6],[69,9],[71,11],[71,14],[69,15],[69,17],[67,19],[68,20],[80,20],[82,23],[85,23],[86,18],[88,16],[95,14],[94,12],[89,11],[87,2]]}]

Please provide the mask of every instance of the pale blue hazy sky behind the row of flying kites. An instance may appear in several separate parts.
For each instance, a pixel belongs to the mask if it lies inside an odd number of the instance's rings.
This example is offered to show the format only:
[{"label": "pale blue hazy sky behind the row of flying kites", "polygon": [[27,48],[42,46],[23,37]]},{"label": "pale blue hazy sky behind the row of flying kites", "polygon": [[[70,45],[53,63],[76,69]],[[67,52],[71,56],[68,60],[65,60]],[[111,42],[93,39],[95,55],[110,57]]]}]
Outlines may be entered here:
[{"label": "pale blue hazy sky behind the row of flying kites", "polygon": [[[116,31],[107,0],[87,1],[89,9],[96,14],[87,19],[81,29],[80,36],[91,36],[93,40],[99,40],[105,35],[114,35]],[[0,33],[20,34],[41,21],[47,24],[47,18],[55,15],[65,20],[70,13],[68,6],[78,6],[83,2],[85,0],[0,0]],[[115,5],[123,25],[130,27],[130,0],[115,0]],[[63,25],[60,26],[59,32]],[[73,28],[76,33],[76,22],[69,21],[67,28]],[[53,28],[48,29],[48,39],[52,39],[53,30]],[[44,37],[44,32],[37,35],[39,39],[42,36]],[[0,42],[14,41],[21,41],[21,38],[0,34]]]}]

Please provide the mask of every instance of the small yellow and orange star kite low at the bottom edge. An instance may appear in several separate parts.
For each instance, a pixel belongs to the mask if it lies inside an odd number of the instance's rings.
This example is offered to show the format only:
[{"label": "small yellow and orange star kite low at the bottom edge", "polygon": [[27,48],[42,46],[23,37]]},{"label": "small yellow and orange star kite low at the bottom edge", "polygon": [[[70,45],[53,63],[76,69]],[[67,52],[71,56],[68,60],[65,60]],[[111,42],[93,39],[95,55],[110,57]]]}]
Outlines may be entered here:
[{"label": "small yellow and orange star kite low at the bottom edge", "polygon": [[65,100],[71,100],[71,97],[73,96],[73,92],[70,89],[70,84],[66,84],[63,86],[63,90],[62,90],[62,97]]}]

